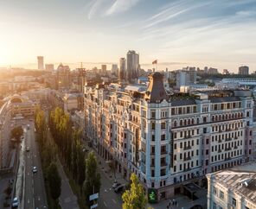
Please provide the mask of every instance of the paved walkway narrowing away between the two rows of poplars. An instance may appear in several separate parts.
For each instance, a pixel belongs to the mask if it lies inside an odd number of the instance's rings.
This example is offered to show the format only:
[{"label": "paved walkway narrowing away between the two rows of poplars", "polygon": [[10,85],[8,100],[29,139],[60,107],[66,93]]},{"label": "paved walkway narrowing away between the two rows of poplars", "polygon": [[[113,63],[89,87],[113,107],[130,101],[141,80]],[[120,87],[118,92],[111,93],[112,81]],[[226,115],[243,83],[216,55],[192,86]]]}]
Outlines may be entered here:
[{"label": "paved walkway narrowing away between the two rows of poplars", "polygon": [[59,198],[62,209],[79,209],[77,197],[69,185],[67,176],[62,168],[61,162],[57,161],[58,172],[61,176],[61,196]]}]

